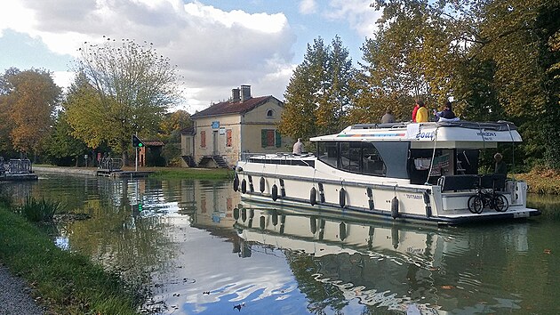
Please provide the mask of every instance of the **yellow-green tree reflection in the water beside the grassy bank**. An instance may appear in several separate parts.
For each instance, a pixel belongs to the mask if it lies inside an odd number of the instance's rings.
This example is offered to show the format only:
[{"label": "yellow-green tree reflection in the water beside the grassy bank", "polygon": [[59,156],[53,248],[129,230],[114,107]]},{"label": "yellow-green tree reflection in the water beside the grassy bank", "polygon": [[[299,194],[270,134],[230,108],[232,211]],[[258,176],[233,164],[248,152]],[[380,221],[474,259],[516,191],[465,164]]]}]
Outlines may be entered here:
[{"label": "yellow-green tree reflection in the water beside the grassy bank", "polygon": [[164,272],[173,255],[172,235],[162,216],[133,216],[132,206],[91,200],[81,209],[92,219],[63,228],[70,249],[87,254],[133,285],[148,284],[152,272]]}]

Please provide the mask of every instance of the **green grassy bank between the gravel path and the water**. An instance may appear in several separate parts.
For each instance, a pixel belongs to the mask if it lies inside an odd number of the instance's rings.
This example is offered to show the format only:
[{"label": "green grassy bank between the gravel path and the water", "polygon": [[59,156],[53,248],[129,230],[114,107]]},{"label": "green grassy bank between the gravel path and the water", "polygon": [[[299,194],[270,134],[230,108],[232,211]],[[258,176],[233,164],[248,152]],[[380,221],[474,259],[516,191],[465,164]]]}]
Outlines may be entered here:
[{"label": "green grassy bank between the gravel path and the water", "polygon": [[55,246],[36,225],[0,204],[0,262],[56,314],[137,314],[141,296],[87,257]]}]

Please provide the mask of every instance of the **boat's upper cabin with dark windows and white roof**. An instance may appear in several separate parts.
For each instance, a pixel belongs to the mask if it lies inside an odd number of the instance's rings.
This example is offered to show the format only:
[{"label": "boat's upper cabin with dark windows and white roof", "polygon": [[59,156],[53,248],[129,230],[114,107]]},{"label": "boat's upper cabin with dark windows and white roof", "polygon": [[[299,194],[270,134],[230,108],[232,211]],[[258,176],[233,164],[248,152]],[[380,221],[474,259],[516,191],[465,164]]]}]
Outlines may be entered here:
[{"label": "boat's upper cabin with dark windows and white roof", "polygon": [[[311,141],[317,144],[316,158],[346,172],[412,184],[445,182],[452,190],[466,190],[481,184],[479,176],[473,176],[481,149],[521,137],[507,122],[440,122],[352,125]],[[487,180],[483,184],[490,185]]]}]

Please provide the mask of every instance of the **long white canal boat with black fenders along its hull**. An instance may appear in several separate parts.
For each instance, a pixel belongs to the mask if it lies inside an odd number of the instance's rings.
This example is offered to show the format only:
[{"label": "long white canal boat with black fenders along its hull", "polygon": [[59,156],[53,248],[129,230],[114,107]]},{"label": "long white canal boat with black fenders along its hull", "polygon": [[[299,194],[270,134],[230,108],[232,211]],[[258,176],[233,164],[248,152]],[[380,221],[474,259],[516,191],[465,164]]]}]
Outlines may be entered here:
[{"label": "long white canal boat with black fenders along its hull", "polygon": [[401,222],[461,224],[539,215],[527,184],[478,174],[481,151],[521,142],[508,122],[352,125],[311,138],[316,154],[252,155],[237,163],[242,198]]}]

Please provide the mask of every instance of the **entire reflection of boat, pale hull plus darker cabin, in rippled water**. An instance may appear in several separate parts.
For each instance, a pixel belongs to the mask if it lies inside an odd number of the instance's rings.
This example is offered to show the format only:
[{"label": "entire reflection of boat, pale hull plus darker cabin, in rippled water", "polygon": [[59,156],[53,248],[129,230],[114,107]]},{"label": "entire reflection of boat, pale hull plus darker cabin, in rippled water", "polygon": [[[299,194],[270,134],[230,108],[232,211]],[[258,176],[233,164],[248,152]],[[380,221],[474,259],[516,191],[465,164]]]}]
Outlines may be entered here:
[{"label": "entire reflection of boat, pale hull plus darker cabin, in rippled water", "polygon": [[[315,284],[302,287],[337,287],[344,300],[356,298],[388,310],[416,307],[422,313],[445,313],[429,302],[438,300],[432,274],[439,271],[446,242],[453,238],[449,230],[248,204],[236,208],[234,218],[245,242],[284,249],[290,262],[300,254],[313,257],[316,267],[308,269],[315,271]],[[428,303],[415,301],[417,287]]]}]

